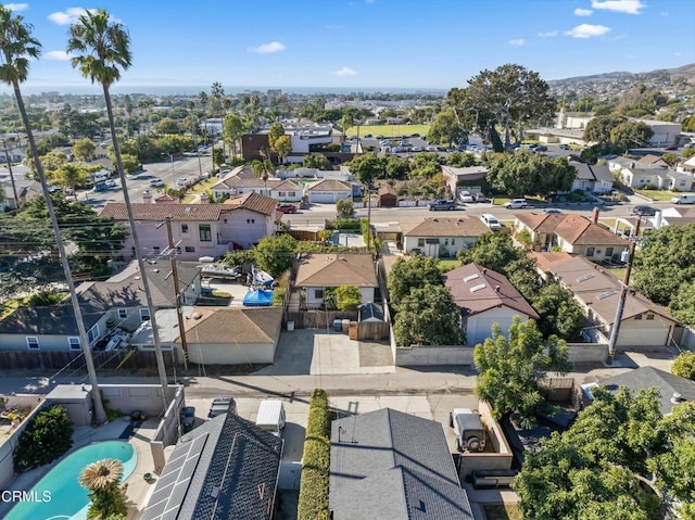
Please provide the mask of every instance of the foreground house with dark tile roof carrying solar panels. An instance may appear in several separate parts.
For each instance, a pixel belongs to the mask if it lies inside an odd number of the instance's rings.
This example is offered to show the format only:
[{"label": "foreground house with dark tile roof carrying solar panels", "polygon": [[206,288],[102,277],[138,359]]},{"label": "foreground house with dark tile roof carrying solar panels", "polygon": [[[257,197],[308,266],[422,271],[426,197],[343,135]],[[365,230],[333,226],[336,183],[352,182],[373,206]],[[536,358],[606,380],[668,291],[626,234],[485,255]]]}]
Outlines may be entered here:
[{"label": "foreground house with dark tile roof carrying solar panels", "polygon": [[142,520],[275,518],[282,443],[233,413],[203,422],[169,454]]}]

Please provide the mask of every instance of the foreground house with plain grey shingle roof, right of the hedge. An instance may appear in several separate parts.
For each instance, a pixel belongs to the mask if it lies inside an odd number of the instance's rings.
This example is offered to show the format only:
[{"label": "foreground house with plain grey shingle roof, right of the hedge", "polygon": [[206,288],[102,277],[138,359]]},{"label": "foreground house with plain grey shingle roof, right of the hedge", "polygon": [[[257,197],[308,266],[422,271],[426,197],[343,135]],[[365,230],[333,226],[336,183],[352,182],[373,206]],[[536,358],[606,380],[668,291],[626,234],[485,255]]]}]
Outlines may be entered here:
[{"label": "foreground house with plain grey shingle roof, right of the hedge", "polygon": [[472,520],[442,424],[382,408],[331,423],[333,520]]}]

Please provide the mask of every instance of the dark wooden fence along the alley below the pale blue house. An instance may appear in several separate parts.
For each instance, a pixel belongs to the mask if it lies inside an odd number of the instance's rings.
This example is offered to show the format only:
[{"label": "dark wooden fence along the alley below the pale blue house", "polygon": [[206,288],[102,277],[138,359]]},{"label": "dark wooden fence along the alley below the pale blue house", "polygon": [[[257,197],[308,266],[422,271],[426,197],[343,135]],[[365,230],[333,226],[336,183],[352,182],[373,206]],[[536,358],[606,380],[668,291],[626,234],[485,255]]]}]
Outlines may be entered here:
[{"label": "dark wooden fence along the alley below the pale blue house", "polygon": [[[91,353],[97,369],[152,369],[156,370],[156,357],[154,352],[141,352],[130,350],[96,351]],[[165,365],[172,365],[170,352],[165,352]],[[86,371],[85,356],[81,352],[27,352],[7,351],[0,352],[0,369],[2,370],[60,370],[65,368],[71,371]]]}]

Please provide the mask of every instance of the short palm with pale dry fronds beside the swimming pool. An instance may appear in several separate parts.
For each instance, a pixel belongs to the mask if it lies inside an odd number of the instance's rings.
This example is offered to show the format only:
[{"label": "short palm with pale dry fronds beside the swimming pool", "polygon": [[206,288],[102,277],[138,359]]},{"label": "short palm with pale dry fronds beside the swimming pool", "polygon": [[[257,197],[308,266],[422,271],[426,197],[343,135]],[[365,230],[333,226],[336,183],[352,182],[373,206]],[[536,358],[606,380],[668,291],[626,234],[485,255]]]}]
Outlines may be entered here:
[{"label": "short palm with pale dry fronds beside the swimming pool", "polygon": [[104,458],[91,462],[79,473],[79,485],[89,491],[91,505],[87,518],[125,518],[126,484],[121,485],[123,462],[115,458]]}]

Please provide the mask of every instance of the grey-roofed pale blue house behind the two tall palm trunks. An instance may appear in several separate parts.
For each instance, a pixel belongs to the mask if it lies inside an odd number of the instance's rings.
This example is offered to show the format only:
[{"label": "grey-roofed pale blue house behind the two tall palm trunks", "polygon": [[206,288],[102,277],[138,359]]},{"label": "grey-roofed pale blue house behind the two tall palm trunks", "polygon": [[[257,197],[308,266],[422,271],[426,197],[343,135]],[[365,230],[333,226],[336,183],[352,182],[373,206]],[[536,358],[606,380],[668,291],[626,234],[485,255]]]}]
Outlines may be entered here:
[{"label": "grey-roofed pale blue house behind the two tall palm trunks", "polygon": [[[154,307],[175,308],[168,263],[147,263],[147,268]],[[201,291],[200,269],[180,264],[178,278],[182,303],[193,304]],[[116,329],[134,332],[150,320],[142,276],[135,262],[105,281],[84,282],[76,290],[92,348]],[[163,324],[157,326],[161,328]],[[67,301],[48,307],[20,307],[0,321],[0,350],[80,351],[81,347],[77,320]]]}]

